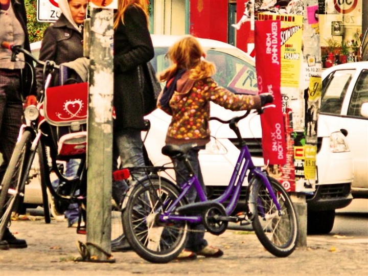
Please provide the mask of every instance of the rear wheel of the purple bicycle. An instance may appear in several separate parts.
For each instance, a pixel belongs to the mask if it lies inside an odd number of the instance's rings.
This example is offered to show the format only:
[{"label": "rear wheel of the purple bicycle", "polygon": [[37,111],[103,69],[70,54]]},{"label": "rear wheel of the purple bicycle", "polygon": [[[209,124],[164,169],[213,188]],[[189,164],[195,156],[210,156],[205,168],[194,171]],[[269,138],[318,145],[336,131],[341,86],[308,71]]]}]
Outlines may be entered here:
[{"label": "rear wheel of the purple bicycle", "polygon": [[[158,215],[163,214],[178,195],[176,185],[158,176],[150,176],[149,180],[136,184],[128,194],[129,199],[122,213],[124,233],[135,252],[149,262],[168,263],[186,245],[186,221],[158,221]],[[178,206],[187,203],[186,199],[182,199]]]}]

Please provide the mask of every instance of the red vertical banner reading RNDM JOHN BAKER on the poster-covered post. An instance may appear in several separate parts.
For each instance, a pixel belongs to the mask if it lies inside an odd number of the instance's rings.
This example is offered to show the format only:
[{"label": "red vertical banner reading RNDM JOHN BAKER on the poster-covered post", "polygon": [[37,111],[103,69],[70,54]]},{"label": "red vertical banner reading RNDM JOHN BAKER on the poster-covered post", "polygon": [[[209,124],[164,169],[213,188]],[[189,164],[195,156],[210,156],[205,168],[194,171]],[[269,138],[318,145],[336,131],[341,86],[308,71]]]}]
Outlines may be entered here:
[{"label": "red vertical banner reading RNDM JOHN BAKER on the poster-covered post", "polygon": [[259,94],[272,93],[275,108],[261,116],[262,147],[265,164],[286,163],[286,140],[282,111],[281,25],[279,20],[257,20],[255,29],[256,71]]}]

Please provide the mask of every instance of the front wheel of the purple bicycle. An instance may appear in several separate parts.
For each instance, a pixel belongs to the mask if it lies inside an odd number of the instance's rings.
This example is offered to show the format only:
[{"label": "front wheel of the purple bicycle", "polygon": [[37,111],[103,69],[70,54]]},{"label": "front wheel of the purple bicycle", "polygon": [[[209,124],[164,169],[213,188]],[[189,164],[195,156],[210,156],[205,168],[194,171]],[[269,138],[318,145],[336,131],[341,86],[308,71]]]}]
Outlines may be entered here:
[{"label": "front wheel of the purple bicycle", "polygon": [[250,210],[255,210],[252,226],[262,245],[271,254],[287,257],[294,251],[297,242],[296,215],[285,189],[277,180],[269,178],[269,181],[281,205],[282,215],[279,215],[263,181],[255,178],[250,186]]}]

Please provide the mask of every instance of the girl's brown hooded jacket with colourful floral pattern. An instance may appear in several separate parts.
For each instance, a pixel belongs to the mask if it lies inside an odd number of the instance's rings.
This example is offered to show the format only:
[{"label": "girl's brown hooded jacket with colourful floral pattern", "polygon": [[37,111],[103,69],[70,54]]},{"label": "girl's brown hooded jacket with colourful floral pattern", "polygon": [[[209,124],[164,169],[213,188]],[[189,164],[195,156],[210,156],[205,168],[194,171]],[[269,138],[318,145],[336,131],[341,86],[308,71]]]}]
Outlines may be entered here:
[{"label": "girl's brown hooded jacket with colourful floral pattern", "polygon": [[233,111],[261,107],[259,96],[235,95],[224,87],[218,86],[211,77],[190,80],[189,72],[186,72],[177,82],[177,89],[170,99],[169,108],[159,104],[160,96],[157,107],[172,116],[166,144],[197,143],[198,146],[203,146],[208,143],[210,141],[210,102]]}]

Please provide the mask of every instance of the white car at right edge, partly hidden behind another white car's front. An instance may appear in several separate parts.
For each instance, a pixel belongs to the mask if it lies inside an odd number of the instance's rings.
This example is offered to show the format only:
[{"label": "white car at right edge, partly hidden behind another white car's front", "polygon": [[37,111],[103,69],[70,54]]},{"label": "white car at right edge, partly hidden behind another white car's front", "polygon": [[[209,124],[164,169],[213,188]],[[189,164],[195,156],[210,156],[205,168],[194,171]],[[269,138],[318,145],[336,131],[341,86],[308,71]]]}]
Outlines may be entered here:
[{"label": "white car at right edge, partly hidden behind another white car's front", "polygon": [[320,120],[346,134],[354,158],[353,196],[368,198],[368,61],[336,65],[322,76]]}]

